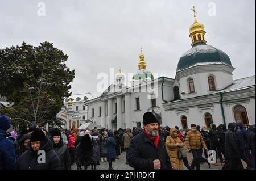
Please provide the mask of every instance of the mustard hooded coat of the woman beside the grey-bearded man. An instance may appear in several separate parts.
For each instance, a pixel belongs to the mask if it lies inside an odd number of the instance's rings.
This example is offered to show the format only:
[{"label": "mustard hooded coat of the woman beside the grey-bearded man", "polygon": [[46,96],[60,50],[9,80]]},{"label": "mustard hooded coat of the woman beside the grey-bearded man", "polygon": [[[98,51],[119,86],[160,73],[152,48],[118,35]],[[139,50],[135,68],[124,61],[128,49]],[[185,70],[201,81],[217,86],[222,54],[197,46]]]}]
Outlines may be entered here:
[{"label": "mustard hooded coat of the woman beside the grey-bearded man", "polygon": [[172,128],[170,131],[170,136],[166,138],[166,150],[170,157],[170,161],[172,163],[172,169],[174,170],[183,170],[183,161],[182,159],[178,158],[178,147],[176,144],[180,144],[180,148],[183,148],[183,142],[180,140],[179,137],[174,136],[174,132],[177,132],[177,129]]}]

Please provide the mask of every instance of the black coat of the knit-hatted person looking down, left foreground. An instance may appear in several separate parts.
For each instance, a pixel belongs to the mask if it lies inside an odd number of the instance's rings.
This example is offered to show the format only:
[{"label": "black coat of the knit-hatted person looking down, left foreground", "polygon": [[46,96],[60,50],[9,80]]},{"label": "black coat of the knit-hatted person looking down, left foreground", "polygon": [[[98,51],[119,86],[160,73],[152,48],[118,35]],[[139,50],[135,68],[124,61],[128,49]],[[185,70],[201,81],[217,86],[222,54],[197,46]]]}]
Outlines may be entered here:
[{"label": "black coat of the knit-hatted person looking down, left foreground", "polygon": [[[40,150],[46,151],[46,163],[38,163],[38,151],[34,151],[31,145],[28,144],[28,151],[20,155],[16,163],[17,170],[60,170],[60,158],[53,150],[52,142],[47,138],[43,145],[40,145]],[[40,158],[39,158],[40,160]]]}]

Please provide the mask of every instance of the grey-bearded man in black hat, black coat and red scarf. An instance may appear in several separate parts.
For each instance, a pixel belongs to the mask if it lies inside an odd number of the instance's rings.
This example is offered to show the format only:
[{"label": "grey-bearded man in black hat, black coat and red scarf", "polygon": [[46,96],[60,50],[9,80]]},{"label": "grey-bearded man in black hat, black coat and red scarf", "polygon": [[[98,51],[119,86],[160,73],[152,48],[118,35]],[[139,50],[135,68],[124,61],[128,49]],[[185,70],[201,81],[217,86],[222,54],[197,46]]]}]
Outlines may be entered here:
[{"label": "grey-bearded man in black hat, black coat and red scarf", "polygon": [[158,134],[158,120],[151,112],[143,115],[143,132],[130,143],[128,163],[135,170],[171,170],[166,144]]}]

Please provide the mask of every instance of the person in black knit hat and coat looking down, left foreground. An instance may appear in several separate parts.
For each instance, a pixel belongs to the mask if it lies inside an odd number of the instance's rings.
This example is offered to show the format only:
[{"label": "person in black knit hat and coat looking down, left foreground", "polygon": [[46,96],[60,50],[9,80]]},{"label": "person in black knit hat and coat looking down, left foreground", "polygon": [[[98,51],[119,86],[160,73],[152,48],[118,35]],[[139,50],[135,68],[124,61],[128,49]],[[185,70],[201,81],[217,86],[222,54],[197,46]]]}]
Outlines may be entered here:
[{"label": "person in black knit hat and coat looking down, left foreground", "polygon": [[17,170],[60,170],[60,158],[44,132],[36,128],[31,133],[28,151],[20,155]]}]

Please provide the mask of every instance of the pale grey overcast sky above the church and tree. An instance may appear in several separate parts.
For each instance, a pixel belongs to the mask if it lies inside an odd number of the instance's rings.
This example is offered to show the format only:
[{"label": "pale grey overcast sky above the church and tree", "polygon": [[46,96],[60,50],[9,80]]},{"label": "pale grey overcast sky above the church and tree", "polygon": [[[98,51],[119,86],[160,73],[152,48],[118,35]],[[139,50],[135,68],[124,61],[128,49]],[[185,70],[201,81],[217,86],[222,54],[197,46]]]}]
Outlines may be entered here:
[{"label": "pale grey overcast sky above the church and tree", "polygon": [[148,70],[175,78],[181,54],[191,48],[192,6],[207,44],[230,57],[233,78],[255,75],[255,0],[0,0],[0,48],[49,41],[75,69],[73,94],[100,95],[97,74],[119,67],[135,73],[140,47]]}]

